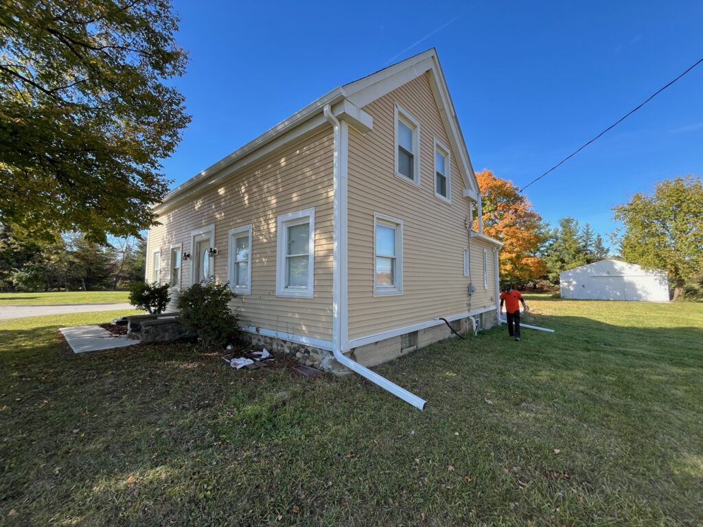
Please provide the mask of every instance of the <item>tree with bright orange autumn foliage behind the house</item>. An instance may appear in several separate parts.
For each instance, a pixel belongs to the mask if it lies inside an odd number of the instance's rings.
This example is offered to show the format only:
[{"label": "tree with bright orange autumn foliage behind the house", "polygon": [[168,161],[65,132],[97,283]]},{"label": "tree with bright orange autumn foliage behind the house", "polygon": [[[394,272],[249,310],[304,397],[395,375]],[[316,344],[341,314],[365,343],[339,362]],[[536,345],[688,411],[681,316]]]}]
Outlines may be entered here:
[{"label": "tree with bright orange autumn foliage behind the house", "polygon": [[[497,178],[489,169],[477,172],[476,178],[482,195],[484,234],[503,242],[501,282],[524,284],[543,276],[547,267],[537,256],[546,238],[542,217],[511,181]],[[474,230],[477,228],[475,219]]]}]

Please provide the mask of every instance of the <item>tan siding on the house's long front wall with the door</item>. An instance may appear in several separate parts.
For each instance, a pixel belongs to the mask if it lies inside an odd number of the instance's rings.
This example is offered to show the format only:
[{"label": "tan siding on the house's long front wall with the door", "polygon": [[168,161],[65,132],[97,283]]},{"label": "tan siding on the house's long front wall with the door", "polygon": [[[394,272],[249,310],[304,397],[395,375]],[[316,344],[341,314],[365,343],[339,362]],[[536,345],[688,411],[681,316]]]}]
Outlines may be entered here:
[{"label": "tan siding on the house's long front wall with the door", "polygon": [[[217,188],[194,197],[160,217],[150,230],[148,254],[161,248],[162,282],[169,280],[169,250],[182,243],[193,253],[191,231],[214,223],[215,278],[228,280],[228,231],[252,225],[252,287],[231,308],[241,323],[269,330],[332,338],[333,138],[330,131],[269,157]],[[315,209],[314,298],[276,297],[276,221],[278,216]],[[191,285],[191,261],[182,263],[181,285]],[[147,260],[147,277],[152,262]]]}]

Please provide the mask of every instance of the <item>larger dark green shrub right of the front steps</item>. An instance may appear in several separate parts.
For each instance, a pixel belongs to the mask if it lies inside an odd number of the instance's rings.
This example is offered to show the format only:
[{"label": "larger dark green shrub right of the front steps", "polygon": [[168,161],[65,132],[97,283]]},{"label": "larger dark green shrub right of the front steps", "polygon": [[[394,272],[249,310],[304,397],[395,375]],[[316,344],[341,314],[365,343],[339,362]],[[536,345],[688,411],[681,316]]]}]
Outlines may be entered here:
[{"label": "larger dark green shrub right of the front steps", "polygon": [[229,282],[217,284],[211,278],[191,285],[179,295],[181,323],[197,333],[206,348],[222,348],[238,335],[237,316],[228,306],[234,297]]}]

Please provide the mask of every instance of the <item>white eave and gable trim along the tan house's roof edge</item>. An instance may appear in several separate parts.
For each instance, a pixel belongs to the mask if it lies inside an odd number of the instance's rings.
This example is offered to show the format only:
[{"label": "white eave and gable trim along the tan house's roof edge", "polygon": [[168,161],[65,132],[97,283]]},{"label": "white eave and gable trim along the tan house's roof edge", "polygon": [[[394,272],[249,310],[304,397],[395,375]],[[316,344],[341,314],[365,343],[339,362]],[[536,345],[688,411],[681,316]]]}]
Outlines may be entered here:
[{"label": "white eave and gable trim along the tan house's roof edge", "polygon": [[330,105],[333,109],[333,115],[336,117],[343,115],[355,128],[360,131],[368,131],[372,129],[373,119],[366,112],[363,112],[363,106],[373,103],[374,100],[427,72],[430,73],[432,93],[449,135],[451,148],[455,152],[460,174],[464,179],[464,196],[477,200],[479,188],[474,169],[446,86],[444,73],[439,65],[437,51],[430,48],[423,53],[418,53],[325,93],[321,98],[295,112],[288,119],[276,124],[264,134],[223,157],[185,183],[181,183],[166,195],[163,202],[155,204],[153,209],[155,212],[166,212],[188,200],[188,197],[199,194],[209,186],[249,167],[265,155],[276,152],[292,141],[310,136],[323,127],[329,126],[323,115],[325,105]]}]

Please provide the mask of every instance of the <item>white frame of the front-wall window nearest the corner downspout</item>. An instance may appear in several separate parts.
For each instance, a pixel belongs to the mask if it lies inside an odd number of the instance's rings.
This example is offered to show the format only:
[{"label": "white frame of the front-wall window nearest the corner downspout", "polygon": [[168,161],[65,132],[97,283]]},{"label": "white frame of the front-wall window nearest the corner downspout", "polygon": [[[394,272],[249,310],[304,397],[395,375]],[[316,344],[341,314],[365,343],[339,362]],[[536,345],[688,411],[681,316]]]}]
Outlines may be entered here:
[{"label": "white frame of the front-wall window nearest the corner downspout", "polygon": [[[287,287],[286,247],[288,247],[288,227],[299,223],[309,223],[308,236],[308,285],[307,287]],[[315,209],[305,209],[278,216],[276,225],[276,297],[313,298],[315,289]]]}]

